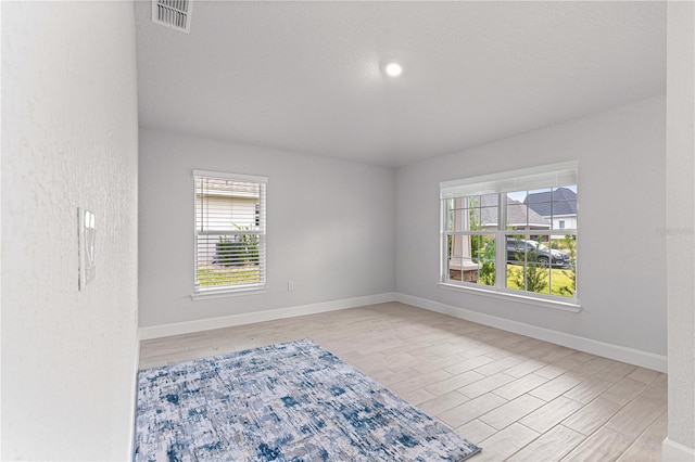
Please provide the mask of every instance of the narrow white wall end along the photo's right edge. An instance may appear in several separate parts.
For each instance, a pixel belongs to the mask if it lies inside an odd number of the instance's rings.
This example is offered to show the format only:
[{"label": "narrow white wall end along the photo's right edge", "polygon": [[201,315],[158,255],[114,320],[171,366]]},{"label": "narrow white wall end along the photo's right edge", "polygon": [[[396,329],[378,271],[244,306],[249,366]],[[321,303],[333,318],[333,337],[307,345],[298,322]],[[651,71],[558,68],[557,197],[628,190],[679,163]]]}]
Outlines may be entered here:
[{"label": "narrow white wall end along the photo's right edge", "polygon": [[[667,252],[669,436],[664,460],[695,460],[695,7],[668,4]],[[681,449],[688,448],[682,453]],[[690,453],[690,455],[688,455]]]}]

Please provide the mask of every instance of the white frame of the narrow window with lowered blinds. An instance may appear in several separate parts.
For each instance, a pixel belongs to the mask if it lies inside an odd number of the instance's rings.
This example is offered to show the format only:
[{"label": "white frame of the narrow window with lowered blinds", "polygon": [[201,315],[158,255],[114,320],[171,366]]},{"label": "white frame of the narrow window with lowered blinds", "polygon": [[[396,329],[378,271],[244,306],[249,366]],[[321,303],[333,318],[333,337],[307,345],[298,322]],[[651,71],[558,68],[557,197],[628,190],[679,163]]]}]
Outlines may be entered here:
[{"label": "white frame of the narrow window with lowered blinds", "polygon": [[[204,230],[204,224],[201,224],[199,230],[199,206],[198,194],[199,179],[204,180],[227,180],[239,183],[253,183],[258,187],[258,202],[254,204],[254,213],[251,215],[250,230],[222,230],[222,229],[207,229]],[[192,282],[193,288],[191,298],[193,300],[201,300],[207,298],[222,298],[239,295],[251,295],[257,293],[264,293],[267,290],[267,183],[268,178],[256,175],[242,175],[242,174],[229,174],[222,171],[211,170],[193,170],[193,265],[192,265]],[[211,218],[207,218],[208,220]],[[232,223],[233,224],[233,223]],[[198,280],[199,275],[199,238],[201,235],[219,235],[219,236],[235,236],[239,235],[257,235],[257,254],[258,254],[258,281],[249,283],[236,283],[224,284],[213,286],[201,286]],[[232,241],[233,242],[233,241]],[[210,245],[210,244],[208,244]]]}]

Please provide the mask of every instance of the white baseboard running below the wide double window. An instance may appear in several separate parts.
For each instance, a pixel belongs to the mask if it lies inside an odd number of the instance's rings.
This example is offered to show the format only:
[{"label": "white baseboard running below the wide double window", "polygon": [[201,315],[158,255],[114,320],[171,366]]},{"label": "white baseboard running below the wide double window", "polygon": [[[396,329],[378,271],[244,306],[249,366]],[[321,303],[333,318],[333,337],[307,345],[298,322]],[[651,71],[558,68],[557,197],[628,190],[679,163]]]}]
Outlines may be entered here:
[{"label": "white baseboard running below the wide double window", "polygon": [[648,351],[642,351],[620,345],[612,345],[591,338],[580,337],[578,335],[539,328],[535,325],[526,324],[523,322],[511,321],[508,319],[498,318],[496,316],[471,311],[466,308],[458,308],[427,298],[415,297],[401,293],[396,293],[396,301],[401,301],[402,304],[412,305],[418,308],[425,308],[430,311],[440,312],[442,315],[448,315],[455,318],[465,319],[467,321],[477,322],[479,324],[489,325],[491,328],[502,329],[503,331],[514,332],[516,334],[551,342],[556,345],[566,346],[568,348],[590,352],[592,355],[602,356],[604,358],[615,359],[617,361],[652,369],[658,372],[666,373],[668,370],[668,358],[664,355],[655,355]]}]

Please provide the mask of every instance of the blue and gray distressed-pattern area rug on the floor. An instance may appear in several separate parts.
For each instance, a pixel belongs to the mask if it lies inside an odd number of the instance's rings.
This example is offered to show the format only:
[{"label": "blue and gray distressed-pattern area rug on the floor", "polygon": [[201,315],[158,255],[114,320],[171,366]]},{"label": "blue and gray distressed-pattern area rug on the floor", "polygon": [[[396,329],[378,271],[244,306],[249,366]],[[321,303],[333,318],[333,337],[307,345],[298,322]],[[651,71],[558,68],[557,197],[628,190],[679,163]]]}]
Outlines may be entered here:
[{"label": "blue and gray distressed-pattern area rug on the floor", "polygon": [[304,339],[140,371],[136,461],[464,461],[480,448]]}]

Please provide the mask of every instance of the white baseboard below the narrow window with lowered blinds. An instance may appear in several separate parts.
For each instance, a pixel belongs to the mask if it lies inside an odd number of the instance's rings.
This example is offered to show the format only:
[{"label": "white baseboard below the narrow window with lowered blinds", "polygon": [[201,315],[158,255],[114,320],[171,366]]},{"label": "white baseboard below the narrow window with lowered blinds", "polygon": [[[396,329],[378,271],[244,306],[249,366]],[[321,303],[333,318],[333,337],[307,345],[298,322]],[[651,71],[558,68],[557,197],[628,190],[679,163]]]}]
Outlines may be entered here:
[{"label": "white baseboard below the narrow window with lowered blinds", "polygon": [[235,325],[252,324],[254,322],[274,321],[276,319],[293,318],[295,316],[316,315],[319,312],[337,311],[346,308],[357,308],[367,305],[395,301],[396,294],[368,295],[365,297],[343,298],[340,300],[321,301],[318,304],[301,305],[289,308],[279,308],[256,312],[225,316],[220,318],[200,319],[172,324],[144,326],[138,330],[141,341],[150,338],[167,337],[169,335],[190,334],[193,332],[210,331],[213,329],[231,328]]}]

